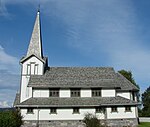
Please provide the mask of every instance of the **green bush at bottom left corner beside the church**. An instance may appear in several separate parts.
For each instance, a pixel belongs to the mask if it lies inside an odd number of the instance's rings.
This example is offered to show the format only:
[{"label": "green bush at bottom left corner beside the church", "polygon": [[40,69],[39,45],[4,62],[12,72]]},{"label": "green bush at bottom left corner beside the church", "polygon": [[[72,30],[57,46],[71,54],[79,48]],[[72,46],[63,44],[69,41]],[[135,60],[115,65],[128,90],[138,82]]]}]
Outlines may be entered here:
[{"label": "green bush at bottom left corner beside the church", "polygon": [[0,112],[0,127],[20,127],[23,124],[19,110]]}]

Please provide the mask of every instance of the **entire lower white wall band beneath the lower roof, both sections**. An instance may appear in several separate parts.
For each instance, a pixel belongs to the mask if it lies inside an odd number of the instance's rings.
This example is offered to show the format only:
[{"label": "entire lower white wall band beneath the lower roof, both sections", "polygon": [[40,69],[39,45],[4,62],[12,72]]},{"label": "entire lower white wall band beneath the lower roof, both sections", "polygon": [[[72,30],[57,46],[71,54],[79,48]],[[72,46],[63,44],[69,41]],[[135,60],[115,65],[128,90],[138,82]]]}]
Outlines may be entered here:
[{"label": "entire lower white wall band beneath the lower roof, both sections", "polygon": [[[51,114],[50,109],[39,109],[39,120],[82,120],[86,113],[96,114],[99,119],[104,119],[103,113],[95,113],[94,108],[80,108],[80,113],[74,114],[72,108],[58,108],[56,114]],[[136,109],[131,107],[130,112],[125,111],[125,107],[118,107],[117,112],[112,112],[111,108],[106,109],[107,119],[126,119],[136,118]],[[26,109],[21,109],[23,120],[37,120],[38,109],[34,109],[33,113],[28,114]]]}]

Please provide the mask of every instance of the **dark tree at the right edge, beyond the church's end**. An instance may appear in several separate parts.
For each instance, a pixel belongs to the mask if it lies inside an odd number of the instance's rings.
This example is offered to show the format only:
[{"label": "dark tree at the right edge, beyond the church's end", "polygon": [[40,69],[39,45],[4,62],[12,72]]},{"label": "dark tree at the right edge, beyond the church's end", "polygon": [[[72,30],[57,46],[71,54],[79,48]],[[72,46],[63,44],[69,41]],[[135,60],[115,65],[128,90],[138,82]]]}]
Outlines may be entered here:
[{"label": "dark tree at the right edge, beyond the church's end", "polygon": [[142,102],[143,102],[142,116],[150,117],[150,86],[142,94]]}]

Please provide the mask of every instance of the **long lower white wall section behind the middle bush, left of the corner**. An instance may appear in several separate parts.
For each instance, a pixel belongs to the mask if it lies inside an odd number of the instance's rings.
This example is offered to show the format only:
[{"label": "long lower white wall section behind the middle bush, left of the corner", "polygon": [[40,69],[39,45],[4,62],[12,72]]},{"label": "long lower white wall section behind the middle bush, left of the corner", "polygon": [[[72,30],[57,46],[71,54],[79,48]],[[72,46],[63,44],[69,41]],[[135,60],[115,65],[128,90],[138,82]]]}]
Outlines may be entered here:
[{"label": "long lower white wall section behind the middle bush, left of the corner", "polygon": [[[21,113],[24,116],[23,120],[37,120],[39,114],[39,120],[83,120],[85,114],[92,113],[95,114],[94,108],[80,108],[80,113],[74,114],[72,108],[68,109],[57,109],[56,114],[51,114],[50,109],[34,109],[33,113],[27,113],[26,109],[21,109]],[[99,119],[104,119],[104,114],[96,113]]]}]

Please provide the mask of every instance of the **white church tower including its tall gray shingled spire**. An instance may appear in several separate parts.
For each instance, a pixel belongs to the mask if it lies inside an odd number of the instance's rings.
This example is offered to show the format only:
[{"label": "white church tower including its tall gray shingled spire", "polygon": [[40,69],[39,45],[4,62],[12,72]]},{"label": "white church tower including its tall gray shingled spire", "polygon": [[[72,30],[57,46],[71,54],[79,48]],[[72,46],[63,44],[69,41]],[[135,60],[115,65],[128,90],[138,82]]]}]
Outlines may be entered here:
[{"label": "white church tower including its tall gray shingled spire", "polygon": [[20,102],[23,102],[32,97],[32,88],[28,87],[30,76],[43,75],[48,65],[47,58],[43,57],[40,11],[37,12],[27,54],[20,63],[22,65]]}]

